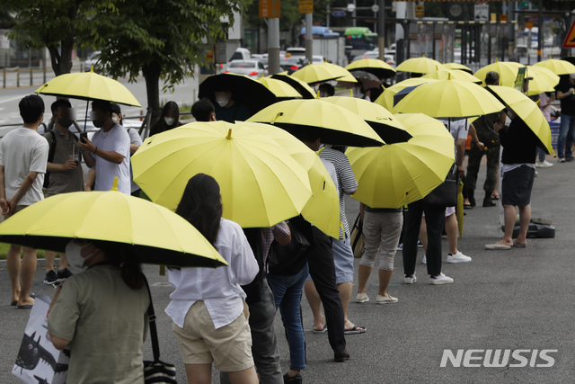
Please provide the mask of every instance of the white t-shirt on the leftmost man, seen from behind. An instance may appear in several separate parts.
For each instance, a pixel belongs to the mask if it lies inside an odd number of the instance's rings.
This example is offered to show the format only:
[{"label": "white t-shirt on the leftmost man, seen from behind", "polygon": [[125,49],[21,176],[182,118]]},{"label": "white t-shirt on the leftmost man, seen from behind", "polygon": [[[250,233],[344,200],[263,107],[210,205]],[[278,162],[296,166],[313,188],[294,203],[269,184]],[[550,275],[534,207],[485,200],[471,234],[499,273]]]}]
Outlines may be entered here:
[{"label": "white t-shirt on the leftmost man, seen from behind", "polygon": [[48,164],[46,138],[28,128],[13,129],[0,140],[0,165],[4,165],[6,200],[18,192],[29,172],[38,172],[36,180],[17,205],[31,205],[44,199],[42,184]]}]

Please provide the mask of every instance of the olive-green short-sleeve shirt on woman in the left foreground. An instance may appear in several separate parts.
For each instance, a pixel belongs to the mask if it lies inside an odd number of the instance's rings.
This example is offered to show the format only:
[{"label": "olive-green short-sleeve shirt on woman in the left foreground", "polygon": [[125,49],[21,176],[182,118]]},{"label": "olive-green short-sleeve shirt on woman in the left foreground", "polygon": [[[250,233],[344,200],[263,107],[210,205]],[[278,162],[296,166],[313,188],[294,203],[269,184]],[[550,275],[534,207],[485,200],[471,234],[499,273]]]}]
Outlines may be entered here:
[{"label": "olive-green short-sleeve shirt on woman in the left foreground", "polygon": [[144,383],[146,286],[132,290],[119,268],[96,265],[66,280],[49,311],[49,333],[70,341],[69,383]]}]

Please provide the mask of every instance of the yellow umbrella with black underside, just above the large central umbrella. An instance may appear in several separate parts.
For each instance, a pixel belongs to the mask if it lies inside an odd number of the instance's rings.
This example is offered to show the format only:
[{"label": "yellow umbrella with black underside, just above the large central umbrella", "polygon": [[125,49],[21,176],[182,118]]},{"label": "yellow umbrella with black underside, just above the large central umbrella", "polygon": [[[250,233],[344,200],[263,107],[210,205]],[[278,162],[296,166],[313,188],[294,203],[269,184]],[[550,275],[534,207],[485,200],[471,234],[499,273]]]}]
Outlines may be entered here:
[{"label": "yellow umbrella with black underside, just above the large central umbrella", "polygon": [[324,144],[378,147],[384,141],[357,114],[323,100],[288,100],[270,105],[248,121],[265,122],[300,138],[314,129]]}]

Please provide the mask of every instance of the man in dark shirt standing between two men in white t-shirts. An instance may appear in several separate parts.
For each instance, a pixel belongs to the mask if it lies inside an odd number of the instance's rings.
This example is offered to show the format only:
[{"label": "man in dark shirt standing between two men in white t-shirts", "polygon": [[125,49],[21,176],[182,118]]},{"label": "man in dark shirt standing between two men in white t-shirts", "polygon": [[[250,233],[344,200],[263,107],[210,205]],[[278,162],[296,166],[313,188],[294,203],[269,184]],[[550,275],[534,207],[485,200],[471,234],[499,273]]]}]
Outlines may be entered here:
[{"label": "man in dark shirt standing between two men in white t-shirts", "polygon": [[[72,118],[72,104],[66,99],[59,99],[50,106],[54,129],[44,135],[49,144],[49,158],[47,171],[50,173],[47,197],[58,193],[84,191],[84,172],[82,170],[82,154],[78,145],[78,138],[70,132],[69,127],[74,123]],[[67,268],[65,253],[60,253],[59,269],[54,269],[56,253],[45,251],[46,277],[45,284],[55,284],[66,281],[72,276]]]}]

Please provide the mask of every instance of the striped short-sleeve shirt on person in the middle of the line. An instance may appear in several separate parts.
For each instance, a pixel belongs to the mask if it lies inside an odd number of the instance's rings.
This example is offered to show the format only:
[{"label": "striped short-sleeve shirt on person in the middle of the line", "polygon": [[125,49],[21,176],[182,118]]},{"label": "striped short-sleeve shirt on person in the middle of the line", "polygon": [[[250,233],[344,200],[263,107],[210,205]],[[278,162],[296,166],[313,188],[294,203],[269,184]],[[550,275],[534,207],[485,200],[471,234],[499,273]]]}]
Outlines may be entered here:
[{"label": "striped short-sleeve shirt on person in the middle of the line", "polygon": [[[358,181],[356,175],[349,165],[348,156],[331,147],[324,147],[320,152],[322,159],[328,160],[335,167],[335,173],[338,176],[338,188],[340,192],[340,220],[343,224],[345,237],[349,237],[349,223],[345,214],[345,193],[352,193],[358,190]],[[343,232],[340,228],[340,239],[343,240]]]}]

